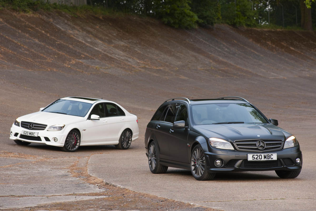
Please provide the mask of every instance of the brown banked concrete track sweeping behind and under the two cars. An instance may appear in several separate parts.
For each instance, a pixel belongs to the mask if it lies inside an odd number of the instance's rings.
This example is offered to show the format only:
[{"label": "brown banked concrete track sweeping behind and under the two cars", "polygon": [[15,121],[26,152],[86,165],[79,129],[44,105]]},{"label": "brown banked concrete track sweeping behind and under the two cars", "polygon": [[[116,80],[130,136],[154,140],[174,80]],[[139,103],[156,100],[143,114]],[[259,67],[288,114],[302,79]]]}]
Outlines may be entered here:
[{"label": "brown banked concrete track sweeping behind and under the two cars", "polygon": [[[91,175],[225,210],[260,210],[258,206],[267,208],[269,203],[275,210],[316,206],[314,32],[226,25],[182,30],[134,16],[1,10],[0,72],[3,151],[51,157],[103,153],[91,157]],[[9,140],[16,117],[63,96],[118,102],[138,116],[140,138],[127,151],[82,147],[70,154],[44,145],[17,146]],[[161,102],[177,96],[246,98],[298,138],[304,156],[300,176],[286,181],[274,172],[232,173],[197,182],[189,171],[170,169],[165,175],[152,175],[143,146],[145,128]]]}]

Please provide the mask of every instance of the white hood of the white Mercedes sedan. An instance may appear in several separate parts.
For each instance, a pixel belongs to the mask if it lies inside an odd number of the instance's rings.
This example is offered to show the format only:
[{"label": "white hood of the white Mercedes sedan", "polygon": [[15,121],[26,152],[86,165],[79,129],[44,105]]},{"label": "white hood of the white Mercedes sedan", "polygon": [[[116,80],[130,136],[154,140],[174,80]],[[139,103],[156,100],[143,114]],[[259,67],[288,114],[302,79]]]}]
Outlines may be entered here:
[{"label": "white hood of the white Mercedes sedan", "polygon": [[32,114],[24,115],[18,118],[19,121],[29,121],[40,124],[45,124],[48,126],[58,125],[58,124],[71,124],[74,122],[84,121],[85,118],[81,116],[73,116],[66,114],[50,113],[45,111],[38,111]]}]

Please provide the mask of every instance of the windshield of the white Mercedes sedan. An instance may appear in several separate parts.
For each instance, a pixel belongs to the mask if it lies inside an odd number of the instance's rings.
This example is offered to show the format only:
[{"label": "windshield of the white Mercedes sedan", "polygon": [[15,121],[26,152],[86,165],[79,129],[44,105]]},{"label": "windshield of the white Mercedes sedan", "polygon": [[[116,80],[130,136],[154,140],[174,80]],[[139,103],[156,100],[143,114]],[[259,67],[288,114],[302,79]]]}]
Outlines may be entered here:
[{"label": "windshield of the white Mercedes sedan", "polygon": [[60,99],[50,104],[42,111],[84,117],[91,106],[92,104],[87,102]]}]

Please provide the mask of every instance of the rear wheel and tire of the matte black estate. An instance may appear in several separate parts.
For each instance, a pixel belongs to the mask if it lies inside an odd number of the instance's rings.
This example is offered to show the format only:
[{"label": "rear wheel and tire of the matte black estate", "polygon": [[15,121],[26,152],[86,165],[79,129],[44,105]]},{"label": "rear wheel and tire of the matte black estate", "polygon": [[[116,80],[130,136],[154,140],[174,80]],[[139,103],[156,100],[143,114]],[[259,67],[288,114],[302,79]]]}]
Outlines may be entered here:
[{"label": "rear wheel and tire of the matte black estate", "polygon": [[148,165],[153,174],[164,174],[168,170],[168,166],[160,163],[159,149],[155,141],[150,142],[148,146]]}]

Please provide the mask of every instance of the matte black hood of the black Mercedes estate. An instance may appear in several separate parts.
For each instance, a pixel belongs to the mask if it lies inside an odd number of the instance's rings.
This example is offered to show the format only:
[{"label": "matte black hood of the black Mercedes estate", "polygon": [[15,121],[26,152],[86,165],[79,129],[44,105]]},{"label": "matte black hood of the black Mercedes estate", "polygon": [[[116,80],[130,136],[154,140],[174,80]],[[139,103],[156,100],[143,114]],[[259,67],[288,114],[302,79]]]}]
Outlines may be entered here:
[{"label": "matte black hood of the black Mercedes estate", "polygon": [[233,142],[245,139],[282,139],[292,134],[273,124],[243,123],[243,124],[219,124],[196,125],[192,131],[207,138],[220,138]]}]

